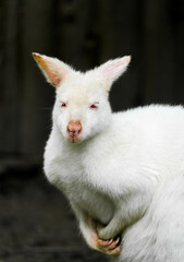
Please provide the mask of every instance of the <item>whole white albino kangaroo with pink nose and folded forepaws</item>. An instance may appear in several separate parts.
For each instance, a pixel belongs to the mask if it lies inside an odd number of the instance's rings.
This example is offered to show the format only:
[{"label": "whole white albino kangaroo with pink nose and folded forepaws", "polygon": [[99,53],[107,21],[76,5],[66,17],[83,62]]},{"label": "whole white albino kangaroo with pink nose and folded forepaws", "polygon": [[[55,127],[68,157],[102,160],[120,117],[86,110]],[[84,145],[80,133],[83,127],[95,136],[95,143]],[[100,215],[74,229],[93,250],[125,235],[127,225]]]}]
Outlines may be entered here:
[{"label": "whole white albino kangaroo with pink nose and folded forepaws", "polygon": [[33,56],[57,92],[45,172],[87,245],[119,262],[183,262],[184,109],[112,114],[109,91],[130,57],[82,73]]}]

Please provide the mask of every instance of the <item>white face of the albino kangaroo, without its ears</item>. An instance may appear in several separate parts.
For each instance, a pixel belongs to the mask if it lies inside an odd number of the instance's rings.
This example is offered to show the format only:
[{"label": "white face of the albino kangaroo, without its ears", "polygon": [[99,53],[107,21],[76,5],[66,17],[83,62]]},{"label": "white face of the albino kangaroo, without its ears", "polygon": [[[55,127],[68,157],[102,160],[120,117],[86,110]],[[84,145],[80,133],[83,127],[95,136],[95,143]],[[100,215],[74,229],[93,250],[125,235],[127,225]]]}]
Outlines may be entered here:
[{"label": "white face of the albino kangaroo, without its ears", "polygon": [[76,74],[57,90],[53,121],[65,140],[82,142],[110,123],[108,94],[91,75]]}]

